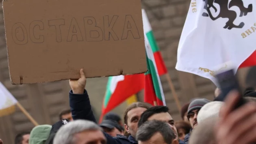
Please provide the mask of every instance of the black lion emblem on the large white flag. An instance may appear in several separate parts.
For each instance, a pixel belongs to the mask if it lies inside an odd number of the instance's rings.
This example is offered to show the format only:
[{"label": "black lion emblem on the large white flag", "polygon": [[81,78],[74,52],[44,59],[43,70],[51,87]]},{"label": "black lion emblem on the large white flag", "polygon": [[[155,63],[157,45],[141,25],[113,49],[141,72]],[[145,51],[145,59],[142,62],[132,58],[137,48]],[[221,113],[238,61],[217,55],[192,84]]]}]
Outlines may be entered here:
[{"label": "black lion emblem on the large white flag", "polygon": [[[231,30],[232,28],[243,28],[245,25],[244,22],[241,22],[238,26],[234,24],[234,20],[236,19],[237,15],[235,11],[229,10],[232,6],[237,6],[240,9],[240,17],[246,16],[247,13],[252,12],[252,4],[249,4],[246,8],[243,5],[243,0],[203,0],[205,2],[204,9],[207,10],[208,13],[203,13],[202,15],[204,17],[210,17],[213,21],[216,19],[222,17],[222,18],[228,18],[228,21],[226,22],[226,26],[223,28],[228,28],[228,30]],[[217,12],[217,8],[213,5],[214,3],[219,4],[220,11],[219,15],[217,17],[213,17],[210,8],[213,8],[215,10],[215,13]]]}]

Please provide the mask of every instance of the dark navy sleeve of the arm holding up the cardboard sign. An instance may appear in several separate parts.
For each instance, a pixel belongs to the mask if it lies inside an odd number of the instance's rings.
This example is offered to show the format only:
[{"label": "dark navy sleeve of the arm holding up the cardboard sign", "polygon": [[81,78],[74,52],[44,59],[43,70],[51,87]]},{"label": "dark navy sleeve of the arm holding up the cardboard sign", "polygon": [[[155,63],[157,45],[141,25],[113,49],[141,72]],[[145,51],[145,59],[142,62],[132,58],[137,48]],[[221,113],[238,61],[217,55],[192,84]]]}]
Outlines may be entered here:
[{"label": "dark navy sleeve of the arm holding up the cardboard sign", "polygon": [[83,94],[73,94],[69,92],[69,106],[74,120],[83,119],[97,123],[91,110],[91,103],[87,91]]}]

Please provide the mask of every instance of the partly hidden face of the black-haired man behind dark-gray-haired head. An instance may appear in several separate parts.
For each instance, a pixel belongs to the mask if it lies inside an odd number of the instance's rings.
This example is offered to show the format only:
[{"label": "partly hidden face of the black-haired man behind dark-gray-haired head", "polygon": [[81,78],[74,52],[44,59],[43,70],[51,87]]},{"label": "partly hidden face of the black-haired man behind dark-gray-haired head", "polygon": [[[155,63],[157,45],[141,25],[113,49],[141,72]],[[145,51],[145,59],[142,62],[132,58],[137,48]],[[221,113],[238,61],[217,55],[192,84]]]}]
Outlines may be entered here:
[{"label": "partly hidden face of the black-haired man behind dark-gray-haired head", "polygon": [[178,132],[174,125],[174,120],[171,117],[171,115],[168,112],[163,112],[159,114],[154,114],[148,118],[148,120],[160,120],[168,123],[171,127],[171,129],[174,131],[174,135],[176,138],[178,138]]}]

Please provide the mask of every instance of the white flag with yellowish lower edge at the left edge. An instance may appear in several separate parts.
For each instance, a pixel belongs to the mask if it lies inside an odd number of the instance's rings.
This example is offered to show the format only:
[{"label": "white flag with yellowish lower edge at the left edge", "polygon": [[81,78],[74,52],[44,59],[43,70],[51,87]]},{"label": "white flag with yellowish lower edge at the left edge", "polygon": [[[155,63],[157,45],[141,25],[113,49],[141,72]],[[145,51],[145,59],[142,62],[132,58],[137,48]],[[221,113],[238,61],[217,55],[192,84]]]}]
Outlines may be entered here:
[{"label": "white flag with yellowish lower edge at the left edge", "polygon": [[15,112],[17,100],[11,92],[0,82],[0,116],[5,116]]}]

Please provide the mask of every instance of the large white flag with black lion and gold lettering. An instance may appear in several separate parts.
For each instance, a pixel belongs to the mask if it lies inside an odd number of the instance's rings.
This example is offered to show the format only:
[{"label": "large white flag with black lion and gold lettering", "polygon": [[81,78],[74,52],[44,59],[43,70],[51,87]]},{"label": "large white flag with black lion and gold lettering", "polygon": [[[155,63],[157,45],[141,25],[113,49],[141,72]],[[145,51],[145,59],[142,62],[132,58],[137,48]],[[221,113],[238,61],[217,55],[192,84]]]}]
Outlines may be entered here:
[{"label": "large white flag with black lion and gold lettering", "polygon": [[214,73],[230,62],[237,70],[255,51],[255,41],[256,0],[191,0],[176,69],[216,84]]}]

